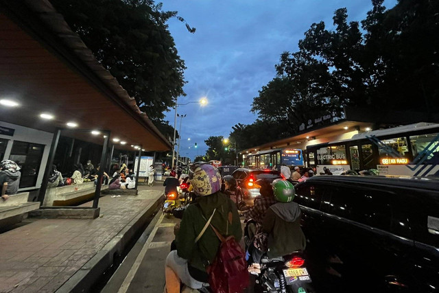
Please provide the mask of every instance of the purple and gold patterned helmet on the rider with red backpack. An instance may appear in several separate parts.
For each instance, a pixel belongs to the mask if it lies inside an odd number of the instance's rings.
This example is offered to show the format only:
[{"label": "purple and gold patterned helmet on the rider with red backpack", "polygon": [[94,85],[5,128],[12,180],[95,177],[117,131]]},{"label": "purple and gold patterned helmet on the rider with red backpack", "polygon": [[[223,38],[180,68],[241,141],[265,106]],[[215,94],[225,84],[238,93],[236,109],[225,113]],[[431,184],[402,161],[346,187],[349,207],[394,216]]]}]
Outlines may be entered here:
[{"label": "purple and gold patterned helmet on the rider with red backpack", "polygon": [[193,169],[191,185],[196,195],[210,196],[221,189],[221,175],[213,165],[200,164]]}]

